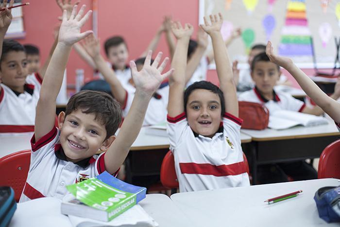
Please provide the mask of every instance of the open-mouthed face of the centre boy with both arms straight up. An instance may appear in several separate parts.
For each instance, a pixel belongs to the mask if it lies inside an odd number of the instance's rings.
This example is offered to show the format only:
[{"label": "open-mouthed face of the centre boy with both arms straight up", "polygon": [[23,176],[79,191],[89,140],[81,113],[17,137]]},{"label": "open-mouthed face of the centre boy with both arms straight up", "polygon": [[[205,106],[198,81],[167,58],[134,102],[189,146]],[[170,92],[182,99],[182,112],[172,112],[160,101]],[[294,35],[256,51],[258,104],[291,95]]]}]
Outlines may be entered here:
[{"label": "open-mouthed face of the centre boy with both arms straight up", "polygon": [[221,122],[221,100],[206,89],[191,92],[187,101],[187,121],[190,128],[205,137],[213,137]]}]

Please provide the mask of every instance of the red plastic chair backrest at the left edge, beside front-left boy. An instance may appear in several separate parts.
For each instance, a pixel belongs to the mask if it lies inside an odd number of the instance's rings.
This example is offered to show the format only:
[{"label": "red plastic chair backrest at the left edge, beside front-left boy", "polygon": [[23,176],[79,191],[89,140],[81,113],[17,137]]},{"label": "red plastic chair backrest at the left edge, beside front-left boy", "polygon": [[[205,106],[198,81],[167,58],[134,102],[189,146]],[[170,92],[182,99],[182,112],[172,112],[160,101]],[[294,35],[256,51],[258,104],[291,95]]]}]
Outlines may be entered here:
[{"label": "red plastic chair backrest at the left edge, beside front-left boy", "polygon": [[[31,150],[19,151],[0,158],[0,186],[10,186],[18,202],[30,169]],[[6,173],[6,174],[4,174]]]}]

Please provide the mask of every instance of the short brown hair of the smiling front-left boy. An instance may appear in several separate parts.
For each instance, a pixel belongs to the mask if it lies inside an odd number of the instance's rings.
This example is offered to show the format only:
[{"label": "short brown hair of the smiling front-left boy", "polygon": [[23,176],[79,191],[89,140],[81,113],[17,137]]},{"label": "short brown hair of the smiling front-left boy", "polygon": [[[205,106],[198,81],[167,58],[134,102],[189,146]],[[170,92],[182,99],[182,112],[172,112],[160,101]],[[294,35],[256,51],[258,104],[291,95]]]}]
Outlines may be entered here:
[{"label": "short brown hair of the smiling front-left boy", "polygon": [[103,91],[79,91],[69,99],[65,117],[77,109],[81,109],[85,114],[95,114],[95,120],[99,119],[102,125],[105,125],[105,140],[115,135],[121,122],[122,112],[119,103],[111,95]]}]

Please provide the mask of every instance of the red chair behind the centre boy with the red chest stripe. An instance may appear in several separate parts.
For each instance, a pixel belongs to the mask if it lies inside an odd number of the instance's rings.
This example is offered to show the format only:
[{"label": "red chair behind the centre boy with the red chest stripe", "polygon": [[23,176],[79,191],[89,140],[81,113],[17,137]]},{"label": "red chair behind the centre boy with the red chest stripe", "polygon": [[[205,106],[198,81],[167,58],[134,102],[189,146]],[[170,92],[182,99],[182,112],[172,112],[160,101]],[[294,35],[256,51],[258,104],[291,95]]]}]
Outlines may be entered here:
[{"label": "red chair behind the centre boy with the red chest stripe", "polygon": [[[246,166],[246,171],[249,175],[249,165],[248,160],[245,154],[243,153],[244,164]],[[175,170],[175,160],[171,151],[163,158],[163,162],[161,165],[161,182],[164,187],[171,189],[171,194],[177,192],[177,188],[179,188],[179,183],[177,180],[176,170]]]}]

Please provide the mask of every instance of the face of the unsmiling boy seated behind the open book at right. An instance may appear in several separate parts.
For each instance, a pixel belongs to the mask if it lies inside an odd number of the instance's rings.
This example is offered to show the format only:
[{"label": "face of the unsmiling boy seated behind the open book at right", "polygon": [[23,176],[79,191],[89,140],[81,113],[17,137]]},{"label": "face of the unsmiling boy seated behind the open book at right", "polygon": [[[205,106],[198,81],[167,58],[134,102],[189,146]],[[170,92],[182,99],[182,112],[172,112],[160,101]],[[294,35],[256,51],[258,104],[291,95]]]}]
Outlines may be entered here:
[{"label": "face of the unsmiling boy seated behind the open book at right", "polygon": [[258,61],[251,75],[259,91],[268,94],[272,93],[273,87],[280,79],[281,72],[277,69],[277,65],[270,61]]}]

